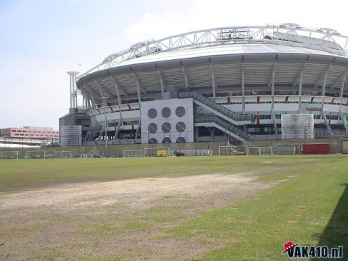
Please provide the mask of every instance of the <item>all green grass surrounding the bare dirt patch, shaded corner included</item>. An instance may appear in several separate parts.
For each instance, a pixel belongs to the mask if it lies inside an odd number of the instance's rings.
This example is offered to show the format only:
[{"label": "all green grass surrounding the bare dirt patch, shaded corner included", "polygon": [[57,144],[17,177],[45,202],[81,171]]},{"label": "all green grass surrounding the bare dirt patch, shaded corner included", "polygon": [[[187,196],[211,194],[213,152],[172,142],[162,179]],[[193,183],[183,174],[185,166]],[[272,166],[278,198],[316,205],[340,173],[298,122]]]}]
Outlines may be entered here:
[{"label": "all green grass surrounding the bare dirt patch, shaded corner included", "polygon": [[[158,235],[166,239],[193,239],[214,246],[198,257],[202,260],[286,260],[280,252],[289,240],[303,246],[342,245],[348,251],[347,170],[345,155],[6,160],[0,161],[0,193],[72,182],[253,172],[259,182],[270,182],[273,187],[188,221],[178,218],[175,206],[158,205],[134,213],[132,219],[110,214],[100,223],[85,224],[90,235],[112,237],[114,232],[159,229]],[[112,213],[118,207],[102,209]],[[172,221],[176,225],[168,228],[165,224]],[[37,258],[60,260],[63,254],[52,251]],[[82,260],[127,257],[85,255]]]}]

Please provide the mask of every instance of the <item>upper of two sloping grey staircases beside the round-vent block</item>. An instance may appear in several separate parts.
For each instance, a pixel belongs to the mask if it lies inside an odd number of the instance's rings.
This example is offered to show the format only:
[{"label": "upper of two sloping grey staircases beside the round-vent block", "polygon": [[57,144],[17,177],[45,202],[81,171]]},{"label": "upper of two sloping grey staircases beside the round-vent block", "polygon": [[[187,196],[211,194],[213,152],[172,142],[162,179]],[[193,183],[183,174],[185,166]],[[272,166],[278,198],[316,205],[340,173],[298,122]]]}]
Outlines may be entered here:
[{"label": "upper of two sloping grey staircases beside the round-vent block", "polygon": [[179,98],[193,98],[194,100],[209,106],[211,109],[214,109],[214,111],[217,111],[235,121],[250,120],[251,122],[255,122],[255,115],[251,113],[235,113],[234,111],[231,111],[230,109],[227,109],[198,93],[179,93]]}]

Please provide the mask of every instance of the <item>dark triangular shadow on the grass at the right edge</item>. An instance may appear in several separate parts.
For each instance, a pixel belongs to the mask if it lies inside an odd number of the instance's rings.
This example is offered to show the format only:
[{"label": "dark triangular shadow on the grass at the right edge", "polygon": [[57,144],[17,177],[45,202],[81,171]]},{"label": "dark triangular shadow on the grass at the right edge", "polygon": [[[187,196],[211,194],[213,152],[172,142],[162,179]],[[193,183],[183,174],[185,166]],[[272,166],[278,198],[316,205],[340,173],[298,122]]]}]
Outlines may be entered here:
[{"label": "dark triangular shadow on the grass at the right edge", "polygon": [[341,186],[345,186],[345,190],[329,223],[322,235],[315,235],[315,237],[319,238],[318,246],[343,246],[343,258],[346,258],[348,256],[348,183]]}]

